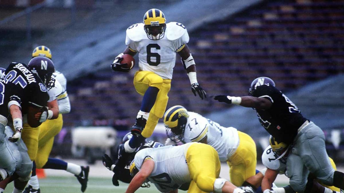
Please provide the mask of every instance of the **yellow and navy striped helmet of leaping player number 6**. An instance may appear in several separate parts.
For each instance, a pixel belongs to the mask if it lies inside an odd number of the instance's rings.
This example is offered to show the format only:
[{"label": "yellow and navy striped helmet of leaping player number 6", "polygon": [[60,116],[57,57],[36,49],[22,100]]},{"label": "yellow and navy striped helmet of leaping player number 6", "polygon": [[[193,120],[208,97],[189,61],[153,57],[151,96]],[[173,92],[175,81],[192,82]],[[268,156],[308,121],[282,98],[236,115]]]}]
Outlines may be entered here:
[{"label": "yellow and navy striped helmet of leaping player number 6", "polygon": [[149,39],[158,40],[164,37],[166,30],[166,19],[161,10],[148,10],[143,16],[143,23],[144,31]]}]

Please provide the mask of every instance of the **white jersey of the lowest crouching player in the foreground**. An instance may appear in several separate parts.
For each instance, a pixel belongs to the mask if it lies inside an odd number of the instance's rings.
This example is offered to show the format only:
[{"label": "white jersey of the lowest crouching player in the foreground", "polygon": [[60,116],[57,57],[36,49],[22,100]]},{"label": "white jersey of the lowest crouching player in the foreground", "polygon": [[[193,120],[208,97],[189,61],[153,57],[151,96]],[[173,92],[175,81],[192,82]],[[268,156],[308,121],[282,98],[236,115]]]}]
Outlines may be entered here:
[{"label": "white jersey of the lowest crouching player in the foreground", "polygon": [[160,192],[178,189],[182,184],[191,182],[185,158],[187,148],[191,144],[142,149],[134,158],[136,168],[140,170],[143,162],[151,159],[154,161],[154,169],[148,180],[154,183]]}]

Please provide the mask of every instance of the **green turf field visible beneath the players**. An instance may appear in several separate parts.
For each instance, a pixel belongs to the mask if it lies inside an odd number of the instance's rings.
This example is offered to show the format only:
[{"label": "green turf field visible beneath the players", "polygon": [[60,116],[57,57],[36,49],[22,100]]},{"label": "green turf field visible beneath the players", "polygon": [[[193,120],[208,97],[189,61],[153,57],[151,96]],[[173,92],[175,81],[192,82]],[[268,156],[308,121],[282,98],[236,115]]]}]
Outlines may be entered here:
[{"label": "green turf field visible beneath the players", "polygon": [[[80,184],[75,177],[47,177],[39,179],[41,193],[79,193]],[[158,193],[154,184],[150,183],[150,188],[140,188],[138,193]],[[119,183],[119,186],[112,185],[111,178],[89,178],[85,193],[123,193],[126,191],[128,184]],[[284,184],[277,184],[281,187]],[[4,193],[11,193],[13,183],[10,183]],[[186,191],[179,191],[186,193]]]}]

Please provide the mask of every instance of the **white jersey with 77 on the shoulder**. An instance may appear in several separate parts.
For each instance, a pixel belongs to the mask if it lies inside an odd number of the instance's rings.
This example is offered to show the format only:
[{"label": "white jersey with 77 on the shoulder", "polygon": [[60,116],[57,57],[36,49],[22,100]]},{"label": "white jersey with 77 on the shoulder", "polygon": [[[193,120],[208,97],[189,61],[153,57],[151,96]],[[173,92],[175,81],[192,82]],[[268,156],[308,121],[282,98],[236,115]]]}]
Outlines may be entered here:
[{"label": "white jersey with 77 on the shoulder", "polygon": [[212,120],[194,112],[187,112],[183,141],[198,142],[207,136],[207,144],[214,147],[220,161],[227,161],[239,146],[238,130],[234,127],[223,127]]}]

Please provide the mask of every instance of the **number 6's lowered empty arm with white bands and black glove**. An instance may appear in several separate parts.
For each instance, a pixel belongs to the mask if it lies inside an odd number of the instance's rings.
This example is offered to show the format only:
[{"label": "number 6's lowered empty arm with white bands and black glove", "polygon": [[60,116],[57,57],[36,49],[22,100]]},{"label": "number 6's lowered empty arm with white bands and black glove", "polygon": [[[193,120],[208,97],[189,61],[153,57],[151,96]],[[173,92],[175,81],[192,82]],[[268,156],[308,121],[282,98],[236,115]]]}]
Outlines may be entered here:
[{"label": "number 6's lowered empty arm with white bands and black glove", "polygon": [[207,97],[207,93],[203,90],[203,88],[197,82],[196,65],[190,53],[189,47],[186,44],[184,44],[184,48],[181,49],[177,53],[182,58],[182,63],[184,65],[184,68],[186,69],[187,76],[189,76],[190,83],[191,83],[191,91],[193,92],[195,96],[197,93],[203,100],[203,98]]}]

